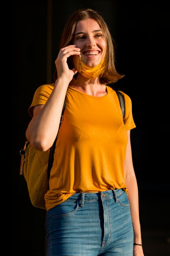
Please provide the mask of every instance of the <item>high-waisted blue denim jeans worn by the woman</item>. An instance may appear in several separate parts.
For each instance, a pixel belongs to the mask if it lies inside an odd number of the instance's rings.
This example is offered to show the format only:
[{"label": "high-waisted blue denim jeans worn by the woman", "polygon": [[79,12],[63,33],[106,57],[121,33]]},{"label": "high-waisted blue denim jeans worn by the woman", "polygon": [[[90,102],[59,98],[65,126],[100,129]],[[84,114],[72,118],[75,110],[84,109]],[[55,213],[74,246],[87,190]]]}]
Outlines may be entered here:
[{"label": "high-waisted blue denim jeans worn by the woman", "polygon": [[75,193],[47,211],[46,240],[47,256],[132,256],[126,192]]}]

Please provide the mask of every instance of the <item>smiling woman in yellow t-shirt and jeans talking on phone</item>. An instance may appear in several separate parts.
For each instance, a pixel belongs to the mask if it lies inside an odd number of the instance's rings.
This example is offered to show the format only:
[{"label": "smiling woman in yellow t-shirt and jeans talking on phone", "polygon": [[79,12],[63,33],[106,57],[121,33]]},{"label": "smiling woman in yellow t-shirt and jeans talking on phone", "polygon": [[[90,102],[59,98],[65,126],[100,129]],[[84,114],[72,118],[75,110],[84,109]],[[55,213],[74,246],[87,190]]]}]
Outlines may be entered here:
[{"label": "smiling woman in yellow t-shirt and jeans talking on phone", "polygon": [[130,145],[132,105],[121,92],[123,122],[117,94],[108,86],[123,75],[115,69],[102,16],[92,9],[71,15],[55,65],[54,83],[35,92],[26,130],[35,149],[49,149],[66,97],[45,195],[47,256],[144,256]]}]

